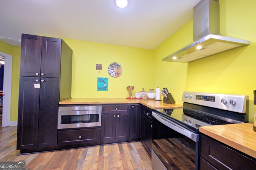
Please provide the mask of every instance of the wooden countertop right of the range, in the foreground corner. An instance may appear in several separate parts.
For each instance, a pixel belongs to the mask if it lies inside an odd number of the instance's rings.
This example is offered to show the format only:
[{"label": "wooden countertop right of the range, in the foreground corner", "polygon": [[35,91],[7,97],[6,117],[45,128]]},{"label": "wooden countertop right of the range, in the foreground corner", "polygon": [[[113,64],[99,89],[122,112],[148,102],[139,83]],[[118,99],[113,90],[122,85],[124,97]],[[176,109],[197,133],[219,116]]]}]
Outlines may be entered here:
[{"label": "wooden countertop right of the range, in the foreground corner", "polygon": [[199,127],[199,131],[234,149],[256,158],[256,132],[253,123]]}]

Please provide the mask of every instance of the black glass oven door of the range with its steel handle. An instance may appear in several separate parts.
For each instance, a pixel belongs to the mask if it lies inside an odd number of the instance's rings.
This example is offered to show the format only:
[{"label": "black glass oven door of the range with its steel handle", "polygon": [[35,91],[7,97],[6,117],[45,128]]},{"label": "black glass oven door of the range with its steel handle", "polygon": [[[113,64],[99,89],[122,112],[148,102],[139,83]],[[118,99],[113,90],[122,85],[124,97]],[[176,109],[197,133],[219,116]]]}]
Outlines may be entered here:
[{"label": "black glass oven door of the range with its steel handle", "polygon": [[152,168],[198,169],[199,135],[152,112]]}]

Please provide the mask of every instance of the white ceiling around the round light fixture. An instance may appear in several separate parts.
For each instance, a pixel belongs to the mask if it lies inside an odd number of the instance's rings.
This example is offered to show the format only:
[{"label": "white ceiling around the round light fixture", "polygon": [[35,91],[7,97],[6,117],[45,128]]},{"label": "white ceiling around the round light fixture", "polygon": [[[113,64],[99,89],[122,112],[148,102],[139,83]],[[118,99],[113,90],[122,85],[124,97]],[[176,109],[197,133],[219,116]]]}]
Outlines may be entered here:
[{"label": "white ceiling around the round light fixture", "polygon": [[200,0],[0,0],[0,41],[22,33],[154,49],[193,18]]}]

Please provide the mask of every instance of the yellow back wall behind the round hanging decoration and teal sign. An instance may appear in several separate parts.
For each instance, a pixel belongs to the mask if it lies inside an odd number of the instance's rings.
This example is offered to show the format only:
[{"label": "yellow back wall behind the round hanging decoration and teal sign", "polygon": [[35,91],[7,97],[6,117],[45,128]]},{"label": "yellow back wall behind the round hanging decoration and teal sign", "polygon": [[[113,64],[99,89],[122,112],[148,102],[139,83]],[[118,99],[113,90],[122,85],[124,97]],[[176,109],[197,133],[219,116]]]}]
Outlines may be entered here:
[{"label": "yellow back wall behind the round hanging decoration and teal sign", "polygon": [[[126,86],[135,92],[152,86],[153,50],[64,39],[73,50],[72,98],[126,98]],[[108,74],[110,63],[121,64],[122,75]],[[102,64],[98,73],[96,64]],[[108,77],[108,91],[97,91],[97,77]]]}]

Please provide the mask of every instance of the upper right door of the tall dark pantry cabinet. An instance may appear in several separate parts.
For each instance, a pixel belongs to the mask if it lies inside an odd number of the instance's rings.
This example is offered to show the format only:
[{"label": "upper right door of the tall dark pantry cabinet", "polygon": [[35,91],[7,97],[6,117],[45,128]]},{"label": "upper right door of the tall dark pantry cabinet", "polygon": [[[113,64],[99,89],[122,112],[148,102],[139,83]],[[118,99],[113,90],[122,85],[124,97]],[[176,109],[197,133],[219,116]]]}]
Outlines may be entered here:
[{"label": "upper right door of the tall dark pantry cabinet", "polygon": [[61,39],[42,37],[41,77],[60,78]]}]

